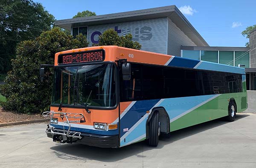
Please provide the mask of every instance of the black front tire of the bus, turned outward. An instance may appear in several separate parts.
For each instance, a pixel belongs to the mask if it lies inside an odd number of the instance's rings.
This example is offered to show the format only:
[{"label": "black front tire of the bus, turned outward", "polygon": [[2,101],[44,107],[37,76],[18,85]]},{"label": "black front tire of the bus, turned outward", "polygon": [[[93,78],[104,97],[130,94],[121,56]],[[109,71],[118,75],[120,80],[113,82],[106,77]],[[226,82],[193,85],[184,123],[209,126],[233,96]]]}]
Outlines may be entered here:
[{"label": "black front tire of the bus, turned outward", "polygon": [[149,146],[157,146],[159,141],[160,134],[160,125],[159,125],[159,112],[155,111],[152,114],[151,120],[149,121],[149,131],[148,131],[148,145]]}]

